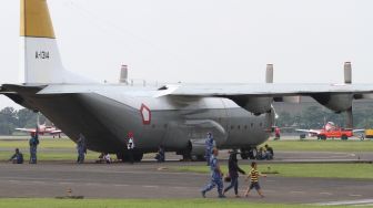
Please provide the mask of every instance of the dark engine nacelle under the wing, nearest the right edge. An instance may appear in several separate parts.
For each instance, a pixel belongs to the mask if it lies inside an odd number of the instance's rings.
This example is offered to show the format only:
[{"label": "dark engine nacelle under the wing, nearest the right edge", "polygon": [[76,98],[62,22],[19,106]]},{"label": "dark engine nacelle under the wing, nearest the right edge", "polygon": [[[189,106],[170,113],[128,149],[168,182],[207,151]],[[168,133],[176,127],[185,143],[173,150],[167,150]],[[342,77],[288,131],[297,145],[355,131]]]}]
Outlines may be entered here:
[{"label": "dark engine nacelle under the wing, nearest the right edge", "polygon": [[352,107],[353,95],[352,94],[335,94],[329,93],[317,94],[313,96],[320,104],[336,112],[345,112]]}]

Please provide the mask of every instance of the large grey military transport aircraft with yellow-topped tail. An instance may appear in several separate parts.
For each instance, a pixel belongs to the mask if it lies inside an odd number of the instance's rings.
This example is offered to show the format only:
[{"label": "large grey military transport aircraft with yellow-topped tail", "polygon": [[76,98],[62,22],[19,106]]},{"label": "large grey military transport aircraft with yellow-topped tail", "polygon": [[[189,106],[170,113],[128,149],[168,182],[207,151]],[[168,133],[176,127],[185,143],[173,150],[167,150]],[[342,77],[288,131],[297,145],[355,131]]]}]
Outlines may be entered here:
[{"label": "large grey military transport aircraft with yellow-topped tail", "polygon": [[271,76],[263,84],[99,84],[64,70],[46,0],[21,0],[20,31],[24,82],[2,84],[0,93],[41,112],[73,141],[83,134],[89,149],[123,160],[128,132],[134,134],[137,160],[160,145],[184,157],[202,156],[208,132],[219,148],[245,154],[269,138],[272,102],[311,96],[352,115],[352,101],[373,93],[372,84],[351,84],[351,63],[345,84],[273,84]]}]

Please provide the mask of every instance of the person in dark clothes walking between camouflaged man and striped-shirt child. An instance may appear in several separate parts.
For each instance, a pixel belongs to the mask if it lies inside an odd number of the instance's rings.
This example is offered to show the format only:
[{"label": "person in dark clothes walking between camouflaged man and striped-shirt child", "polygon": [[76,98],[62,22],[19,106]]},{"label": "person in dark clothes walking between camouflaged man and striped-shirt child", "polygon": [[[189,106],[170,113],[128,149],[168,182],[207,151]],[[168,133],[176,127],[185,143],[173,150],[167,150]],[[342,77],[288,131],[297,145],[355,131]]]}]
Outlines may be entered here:
[{"label": "person in dark clothes walking between camouflaged man and striped-shirt child", "polygon": [[245,171],[239,167],[239,160],[236,158],[236,152],[230,154],[228,162],[229,177],[231,179],[231,185],[224,189],[224,194],[234,187],[235,197],[239,198],[239,173],[245,175]]}]

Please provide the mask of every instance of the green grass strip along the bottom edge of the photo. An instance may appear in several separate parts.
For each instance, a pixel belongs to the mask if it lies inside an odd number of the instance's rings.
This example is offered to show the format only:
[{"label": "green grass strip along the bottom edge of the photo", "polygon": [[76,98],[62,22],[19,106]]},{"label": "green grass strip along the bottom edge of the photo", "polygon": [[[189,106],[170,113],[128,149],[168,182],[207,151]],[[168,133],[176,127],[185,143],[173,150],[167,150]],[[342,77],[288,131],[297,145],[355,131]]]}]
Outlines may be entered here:
[{"label": "green grass strip along the bottom edge of the photo", "polygon": [[[313,208],[311,205],[252,204],[234,199],[1,199],[0,207],[7,208]],[[333,206],[341,208],[343,206]]]}]

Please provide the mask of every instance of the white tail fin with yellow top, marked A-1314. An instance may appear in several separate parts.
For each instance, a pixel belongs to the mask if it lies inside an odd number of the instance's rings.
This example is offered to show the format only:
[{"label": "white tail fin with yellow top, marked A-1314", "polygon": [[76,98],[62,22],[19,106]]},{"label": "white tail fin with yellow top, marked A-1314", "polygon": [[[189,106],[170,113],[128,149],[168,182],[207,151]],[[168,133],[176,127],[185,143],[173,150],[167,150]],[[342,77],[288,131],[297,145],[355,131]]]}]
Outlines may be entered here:
[{"label": "white tail fin with yellow top, marked A-1314", "polygon": [[84,82],[62,65],[47,0],[21,0],[20,35],[22,83]]}]

